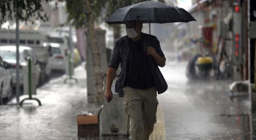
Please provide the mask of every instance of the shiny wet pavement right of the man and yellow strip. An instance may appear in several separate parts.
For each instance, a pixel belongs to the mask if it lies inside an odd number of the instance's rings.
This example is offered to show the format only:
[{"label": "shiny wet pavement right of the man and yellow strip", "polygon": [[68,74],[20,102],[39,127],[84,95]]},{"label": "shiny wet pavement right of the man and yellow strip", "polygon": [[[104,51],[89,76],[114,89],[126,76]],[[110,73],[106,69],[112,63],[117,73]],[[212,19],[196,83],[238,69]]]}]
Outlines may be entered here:
[{"label": "shiny wet pavement right of the man and yellow strip", "polygon": [[168,91],[164,108],[166,140],[250,140],[249,99],[231,100],[226,81],[189,81],[186,63],[162,68]]}]

